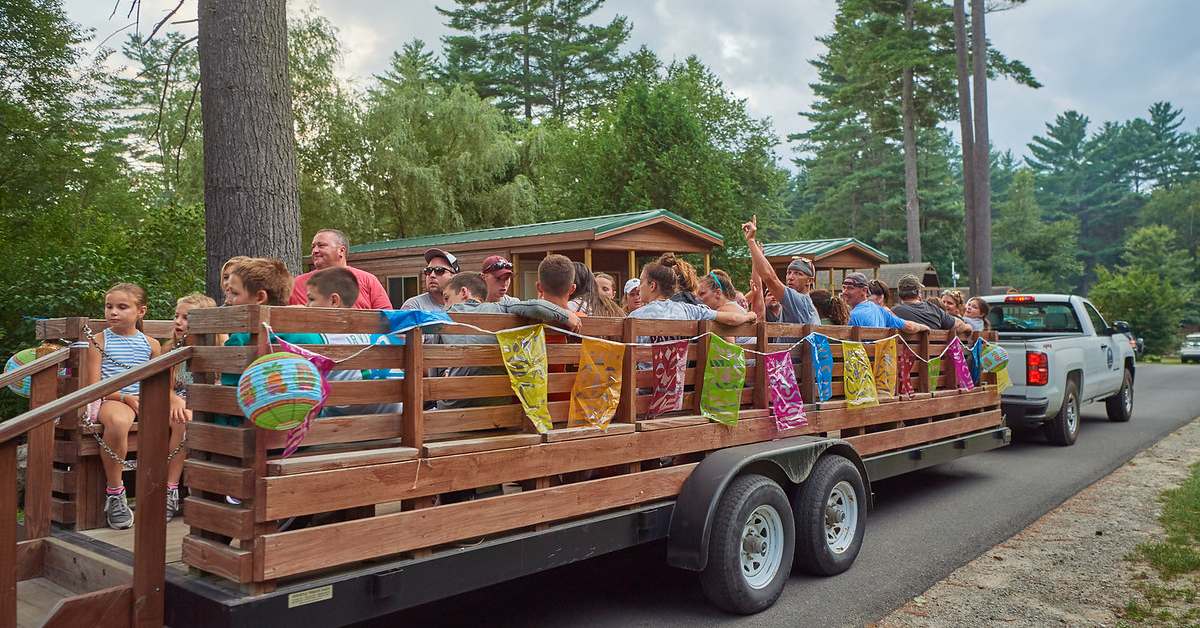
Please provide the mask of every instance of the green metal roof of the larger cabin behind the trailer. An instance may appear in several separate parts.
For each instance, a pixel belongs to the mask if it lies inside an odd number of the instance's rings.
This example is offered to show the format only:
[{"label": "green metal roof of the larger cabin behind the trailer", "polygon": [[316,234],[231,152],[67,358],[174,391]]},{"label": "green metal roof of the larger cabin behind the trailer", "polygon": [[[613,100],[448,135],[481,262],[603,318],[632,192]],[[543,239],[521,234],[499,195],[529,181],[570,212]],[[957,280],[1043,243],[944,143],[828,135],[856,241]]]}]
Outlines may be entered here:
[{"label": "green metal roof of the larger cabin behind the trailer", "polygon": [[590,216],[584,219],[556,220],[551,222],[536,222],[533,225],[514,225],[511,227],[493,227],[491,229],[464,231],[458,233],[443,233],[439,235],[419,235],[416,238],[404,238],[400,240],[383,240],[350,246],[352,253],[367,253],[372,251],[388,251],[394,249],[427,249],[431,246],[449,246],[452,244],[476,243],[485,240],[509,240],[512,238],[528,238],[530,235],[550,235],[558,233],[570,233],[590,231],[595,237],[622,229],[640,222],[665,217],[680,222],[706,235],[724,243],[721,234],[697,225],[678,214],[665,209],[650,209],[646,211],[630,211],[628,214],[611,214],[607,216]]}]

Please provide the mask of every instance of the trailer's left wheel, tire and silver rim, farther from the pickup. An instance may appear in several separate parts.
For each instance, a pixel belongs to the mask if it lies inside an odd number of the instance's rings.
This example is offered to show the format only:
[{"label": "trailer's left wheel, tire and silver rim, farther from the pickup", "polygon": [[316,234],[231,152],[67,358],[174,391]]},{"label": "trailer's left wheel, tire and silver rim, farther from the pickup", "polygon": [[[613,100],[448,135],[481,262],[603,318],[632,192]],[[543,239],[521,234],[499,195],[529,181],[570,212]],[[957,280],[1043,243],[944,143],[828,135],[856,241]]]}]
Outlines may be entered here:
[{"label": "trailer's left wheel, tire and silver rim, farther from the pickup", "polygon": [[700,585],[715,606],[751,615],[779,599],[792,572],[796,524],[775,480],[748,473],[730,483],[713,515]]}]

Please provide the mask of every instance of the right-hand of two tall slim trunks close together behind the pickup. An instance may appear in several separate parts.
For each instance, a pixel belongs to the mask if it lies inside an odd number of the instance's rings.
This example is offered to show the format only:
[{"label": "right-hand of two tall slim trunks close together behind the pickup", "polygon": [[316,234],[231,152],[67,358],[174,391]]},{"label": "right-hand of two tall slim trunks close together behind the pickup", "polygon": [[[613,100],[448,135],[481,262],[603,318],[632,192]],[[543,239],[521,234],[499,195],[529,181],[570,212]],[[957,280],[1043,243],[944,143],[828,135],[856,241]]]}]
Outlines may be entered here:
[{"label": "right-hand of two tall slim trunks close together behind the pickup", "polygon": [[978,269],[971,273],[971,293],[991,294],[991,144],[988,142],[988,34],[984,0],[971,0],[971,52],[974,55],[974,246]]}]

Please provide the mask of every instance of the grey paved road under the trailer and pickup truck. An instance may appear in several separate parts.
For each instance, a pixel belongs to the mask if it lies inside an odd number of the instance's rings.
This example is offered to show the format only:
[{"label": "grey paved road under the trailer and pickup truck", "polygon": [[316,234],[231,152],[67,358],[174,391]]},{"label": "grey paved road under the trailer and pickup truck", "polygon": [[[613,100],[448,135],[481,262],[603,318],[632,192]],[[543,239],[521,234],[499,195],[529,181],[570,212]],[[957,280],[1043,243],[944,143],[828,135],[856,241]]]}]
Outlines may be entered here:
[{"label": "grey paved road under the trailer and pickup truck", "polygon": [[[616,552],[388,617],[377,626],[863,626],[922,593],[1200,414],[1200,366],[1142,365],[1134,418],[1084,407],[1079,441],[1042,441],[875,484],[854,567],[794,575],[769,610],[724,615],[696,574],[665,566],[665,546]],[[1103,521],[1097,522],[1103,527]]]}]

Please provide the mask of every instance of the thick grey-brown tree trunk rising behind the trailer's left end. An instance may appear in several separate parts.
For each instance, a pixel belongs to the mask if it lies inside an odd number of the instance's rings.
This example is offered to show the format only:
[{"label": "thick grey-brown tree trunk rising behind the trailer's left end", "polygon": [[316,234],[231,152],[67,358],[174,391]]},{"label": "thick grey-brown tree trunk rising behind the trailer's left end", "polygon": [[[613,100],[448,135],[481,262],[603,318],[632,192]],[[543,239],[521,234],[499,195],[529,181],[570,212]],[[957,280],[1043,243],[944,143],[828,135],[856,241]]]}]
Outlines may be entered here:
[{"label": "thick grey-brown tree trunk rising behind the trailer's left end", "polygon": [[300,270],[300,197],[284,0],[200,0],[208,291],[246,255]]}]

